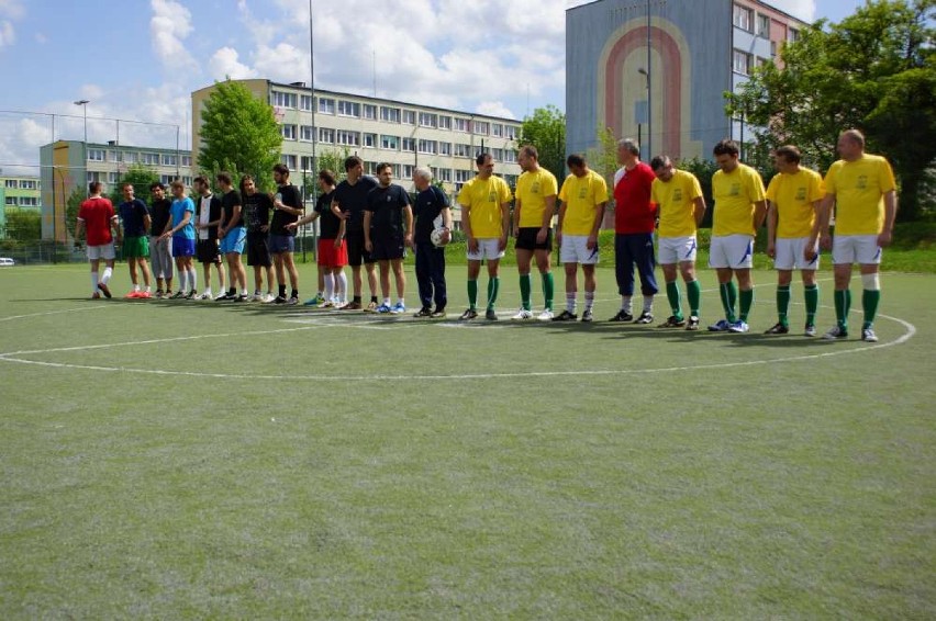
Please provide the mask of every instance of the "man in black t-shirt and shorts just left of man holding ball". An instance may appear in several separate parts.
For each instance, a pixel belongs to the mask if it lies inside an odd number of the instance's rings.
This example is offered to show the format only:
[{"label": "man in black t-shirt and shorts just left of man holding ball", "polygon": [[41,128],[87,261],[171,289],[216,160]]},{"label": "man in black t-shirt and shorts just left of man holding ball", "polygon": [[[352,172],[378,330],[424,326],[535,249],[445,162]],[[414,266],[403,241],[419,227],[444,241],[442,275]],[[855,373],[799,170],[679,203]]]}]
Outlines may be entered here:
[{"label": "man in black t-shirt and shorts just left of man holding ball", "polygon": [[[403,251],[406,246],[413,245],[413,210],[406,191],[392,183],[391,165],[378,165],[377,179],[379,184],[367,195],[364,212],[364,247],[380,266],[383,303],[377,312],[399,315],[406,310],[403,301],[406,289]],[[397,304],[393,306],[390,306],[390,268],[397,280]]]}]

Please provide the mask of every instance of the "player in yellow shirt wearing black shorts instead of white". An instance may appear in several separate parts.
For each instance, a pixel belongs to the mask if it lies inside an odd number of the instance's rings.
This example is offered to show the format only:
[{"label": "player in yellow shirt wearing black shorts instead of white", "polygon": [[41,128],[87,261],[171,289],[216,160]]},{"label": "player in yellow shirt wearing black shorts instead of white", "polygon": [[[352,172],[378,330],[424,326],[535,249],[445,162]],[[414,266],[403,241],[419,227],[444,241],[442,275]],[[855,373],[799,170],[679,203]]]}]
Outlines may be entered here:
[{"label": "player in yellow shirt wearing black shorts instead of white", "polygon": [[523,174],[516,180],[516,204],[513,211],[513,234],[516,237],[516,270],[520,272],[520,312],[514,319],[530,319],[533,312],[530,303],[532,289],[530,266],[536,258],[536,267],[543,280],[545,308],[539,314],[541,321],[553,318],[553,272],[549,253],[553,251],[553,215],[556,213],[558,187],[556,177],[539,166],[536,147],[525,145],[520,148],[517,163]]}]

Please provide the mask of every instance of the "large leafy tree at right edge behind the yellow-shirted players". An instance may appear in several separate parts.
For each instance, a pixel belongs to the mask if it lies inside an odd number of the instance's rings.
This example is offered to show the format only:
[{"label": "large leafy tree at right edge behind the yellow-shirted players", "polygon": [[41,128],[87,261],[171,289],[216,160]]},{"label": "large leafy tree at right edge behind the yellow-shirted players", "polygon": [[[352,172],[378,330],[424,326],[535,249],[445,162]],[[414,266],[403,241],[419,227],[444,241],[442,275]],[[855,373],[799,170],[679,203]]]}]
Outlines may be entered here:
[{"label": "large leafy tree at right edge behind the yellow-shirted players", "polygon": [[782,66],[766,64],[726,94],[727,112],[762,127],[768,148],[794,144],[821,170],[838,134],[861,129],[900,180],[898,217],[915,219],[936,158],[934,18],[936,0],[873,0],[839,24],[821,20],[783,46]]}]

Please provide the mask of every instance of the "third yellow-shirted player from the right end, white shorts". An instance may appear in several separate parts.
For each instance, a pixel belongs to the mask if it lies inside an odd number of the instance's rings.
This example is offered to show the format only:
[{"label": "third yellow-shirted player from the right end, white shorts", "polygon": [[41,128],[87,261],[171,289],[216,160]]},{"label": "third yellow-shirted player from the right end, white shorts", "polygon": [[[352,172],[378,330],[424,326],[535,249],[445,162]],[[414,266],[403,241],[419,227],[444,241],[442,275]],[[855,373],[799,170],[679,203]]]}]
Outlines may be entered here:
[{"label": "third yellow-shirted player from the right end, white shorts", "polygon": [[[764,180],[749,166],[738,161],[738,144],[721,140],[712,150],[720,170],[712,176],[712,245],[709,267],[718,274],[718,291],[725,318],[709,326],[713,332],[748,331],[747,315],[754,305],[754,237],[767,215]],[[732,280],[737,278],[738,284]],[[740,295],[738,295],[740,290]],[[735,316],[735,300],[739,313]]]}]

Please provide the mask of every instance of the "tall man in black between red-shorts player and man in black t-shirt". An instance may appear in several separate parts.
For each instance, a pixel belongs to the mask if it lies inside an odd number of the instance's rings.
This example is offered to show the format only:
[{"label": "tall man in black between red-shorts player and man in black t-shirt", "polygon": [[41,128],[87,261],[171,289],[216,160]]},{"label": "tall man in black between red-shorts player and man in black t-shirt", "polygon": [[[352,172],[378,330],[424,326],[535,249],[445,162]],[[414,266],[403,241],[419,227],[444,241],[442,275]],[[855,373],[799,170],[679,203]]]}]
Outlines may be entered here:
[{"label": "tall man in black between red-shorts player and man in black t-shirt", "polygon": [[342,218],[336,239],[347,241],[348,264],[352,267],[354,297],[344,306],[346,310],[360,310],[360,266],[367,271],[367,284],[370,286],[370,304],[367,310],[377,309],[377,274],[374,272],[374,259],[364,247],[364,208],[367,195],[377,187],[377,181],[364,174],[364,161],[357,156],[345,160],[347,179],[335,188],[332,212]]}]

